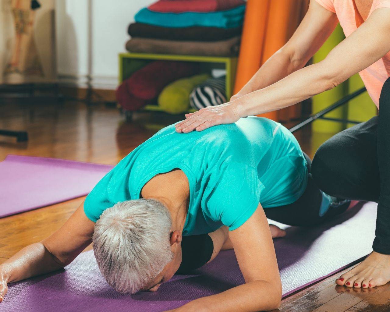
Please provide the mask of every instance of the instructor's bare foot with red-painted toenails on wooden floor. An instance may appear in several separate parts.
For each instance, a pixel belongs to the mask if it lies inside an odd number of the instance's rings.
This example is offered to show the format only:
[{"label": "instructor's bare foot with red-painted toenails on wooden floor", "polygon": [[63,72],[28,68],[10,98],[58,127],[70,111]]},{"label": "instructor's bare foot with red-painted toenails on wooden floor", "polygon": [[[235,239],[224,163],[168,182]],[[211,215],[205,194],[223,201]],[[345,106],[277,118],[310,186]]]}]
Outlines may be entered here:
[{"label": "instructor's bare foot with red-painted toenails on wooden floor", "polygon": [[390,255],[372,252],[362,263],[336,280],[337,285],[372,288],[390,281]]}]

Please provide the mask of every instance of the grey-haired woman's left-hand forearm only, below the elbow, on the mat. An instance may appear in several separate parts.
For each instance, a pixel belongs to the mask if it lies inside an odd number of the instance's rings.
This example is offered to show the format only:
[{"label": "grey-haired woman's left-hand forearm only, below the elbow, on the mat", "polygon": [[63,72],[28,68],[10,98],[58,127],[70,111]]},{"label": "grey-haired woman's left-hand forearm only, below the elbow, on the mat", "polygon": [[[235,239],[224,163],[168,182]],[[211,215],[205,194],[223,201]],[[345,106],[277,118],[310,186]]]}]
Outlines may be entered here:
[{"label": "grey-haired woman's left-hand forearm only, below the elbow, on the mat", "polygon": [[55,260],[43,243],[29,245],[0,265],[7,283],[49,273],[64,266]]}]

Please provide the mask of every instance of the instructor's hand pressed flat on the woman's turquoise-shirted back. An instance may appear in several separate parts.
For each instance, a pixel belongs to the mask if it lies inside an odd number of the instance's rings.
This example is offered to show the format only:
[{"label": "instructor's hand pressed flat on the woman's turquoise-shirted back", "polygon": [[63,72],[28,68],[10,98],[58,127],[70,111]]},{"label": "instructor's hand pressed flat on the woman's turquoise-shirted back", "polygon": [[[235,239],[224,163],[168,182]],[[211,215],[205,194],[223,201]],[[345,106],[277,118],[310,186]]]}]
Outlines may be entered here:
[{"label": "instructor's hand pressed flat on the woman's turquoise-shirted back", "polygon": [[188,133],[202,131],[218,124],[232,124],[240,119],[235,103],[207,106],[195,113],[186,114],[186,119],[176,124],[176,131]]}]

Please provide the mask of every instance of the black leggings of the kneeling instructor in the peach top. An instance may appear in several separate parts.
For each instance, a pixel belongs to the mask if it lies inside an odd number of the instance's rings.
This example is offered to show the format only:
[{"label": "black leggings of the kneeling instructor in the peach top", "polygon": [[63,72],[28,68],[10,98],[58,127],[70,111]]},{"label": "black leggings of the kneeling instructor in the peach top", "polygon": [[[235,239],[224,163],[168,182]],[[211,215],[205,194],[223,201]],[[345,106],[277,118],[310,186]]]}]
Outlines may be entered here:
[{"label": "black leggings of the kneeling instructor in the peach top", "polygon": [[326,141],[311,167],[317,186],[344,199],[378,202],[372,248],[390,254],[390,78],[379,98],[379,115]]}]

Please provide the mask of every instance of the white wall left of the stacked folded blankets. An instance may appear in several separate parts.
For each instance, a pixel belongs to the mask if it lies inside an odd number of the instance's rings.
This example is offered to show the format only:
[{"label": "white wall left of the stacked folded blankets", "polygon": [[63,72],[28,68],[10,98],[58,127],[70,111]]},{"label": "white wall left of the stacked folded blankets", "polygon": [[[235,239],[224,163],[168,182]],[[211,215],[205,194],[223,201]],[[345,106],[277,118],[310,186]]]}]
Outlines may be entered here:
[{"label": "white wall left of the stacked folded blankets", "polygon": [[83,87],[90,74],[94,88],[115,89],[118,53],[126,51],[124,44],[129,39],[127,27],[134,21],[134,14],[152,2],[56,0],[59,81]]}]

